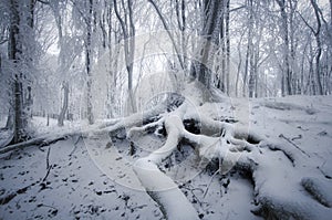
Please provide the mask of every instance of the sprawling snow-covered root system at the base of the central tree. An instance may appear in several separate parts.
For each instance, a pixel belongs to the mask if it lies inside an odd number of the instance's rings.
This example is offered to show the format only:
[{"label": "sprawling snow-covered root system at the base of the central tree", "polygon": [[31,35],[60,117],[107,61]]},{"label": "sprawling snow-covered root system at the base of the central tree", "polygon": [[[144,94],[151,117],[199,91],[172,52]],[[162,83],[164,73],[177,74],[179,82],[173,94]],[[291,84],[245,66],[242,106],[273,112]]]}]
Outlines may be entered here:
[{"label": "sprawling snow-covered root system at the base of the central tree", "polygon": [[[305,166],[312,159],[307,151],[292,145],[284,135],[267,139],[261,136],[263,134],[248,130],[238,118],[211,116],[206,113],[211,105],[209,102],[225,102],[226,98],[215,91],[208,97],[195,83],[185,88],[181,95],[169,95],[151,111],[92,130],[106,132],[111,137],[124,133],[122,138],[128,140],[164,130],[164,145],[137,159],[133,169],[167,219],[198,218],[174,180],[159,169],[181,143],[195,148],[201,164],[218,161],[220,174],[235,167],[249,172],[255,188],[257,209],[252,212],[266,219],[328,219],[332,216],[332,199],[325,196],[331,193],[331,180],[322,184],[310,176],[315,168]],[[91,130],[84,132],[89,133]]]}]

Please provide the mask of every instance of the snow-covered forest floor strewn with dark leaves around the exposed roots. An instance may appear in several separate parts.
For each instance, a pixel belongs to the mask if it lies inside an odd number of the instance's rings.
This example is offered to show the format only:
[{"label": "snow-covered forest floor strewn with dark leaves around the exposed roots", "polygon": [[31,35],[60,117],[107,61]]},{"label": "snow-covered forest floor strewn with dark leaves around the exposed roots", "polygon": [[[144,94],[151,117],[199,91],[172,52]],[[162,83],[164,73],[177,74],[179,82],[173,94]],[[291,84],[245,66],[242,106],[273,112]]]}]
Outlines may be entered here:
[{"label": "snow-covered forest floor strewn with dark leaves around the exposed roots", "polygon": [[[294,167],[280,157],[286,169],[280,169],[278,161],[271,160],[268,164],[270,166],[262,169],[266,171],[262,176],[268,180],[270,177],[273,179],[274,174],[282,176],[274,182],[274,190],[284,188],[287,191],[289,180],[298,186],[292,190],[304,191],[301,179],[293,181],[294,177],[289,176],[297,174],[299,178],[309,177],[322,182],[317,186],[323,188],[320,192],[326,206],[332,205],[331,96],[293,96],[252,102],[234,99],[231,106],[220,105],[219,108],[222,115],[245,118],[248,129],[263,134],[267,139],[283,143],[286,148],[298,154],[295,158],[308,157],[307,164]],[[50,126],[45,126],[45,118],[34,119],[37,136],[81,126],[66,123],[65,128],[58,128],[55,122],[52,121]],[[0,138],[4,137],[2,130]],[[132,170],[138,157],[158,148],[163,142],[155,134],[142,136],[136,144],[144,148],[137,148],[132,156],[131,143],[122,137],[74,136],[50,146],[31,146],[2,154],[0,219],[164,219],[158,205],[139,186]],[[266,153],[267,156],[270,154]],[[280,170],[287,170],[287,166],[295,172],[279,174]],[[159,168],[179,185],[199,218],[261,219],[250,211],[256,207],[256,189],[247,174],[231,169],[226,175],[215,175],[216,168],[201,169],[195,161],[194,150],[187,145],[174,153]],[[308,192],[303,195],[312,197]],[[323,207],[314,198],[312,200]]]}]

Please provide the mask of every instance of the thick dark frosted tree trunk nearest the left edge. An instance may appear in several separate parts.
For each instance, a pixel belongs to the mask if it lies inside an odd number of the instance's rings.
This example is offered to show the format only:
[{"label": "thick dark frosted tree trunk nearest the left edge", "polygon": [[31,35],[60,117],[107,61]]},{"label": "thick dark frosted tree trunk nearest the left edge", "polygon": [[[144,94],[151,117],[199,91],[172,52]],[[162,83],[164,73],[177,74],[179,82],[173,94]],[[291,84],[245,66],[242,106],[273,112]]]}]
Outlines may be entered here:
[{"label": "thick dark frosted tree trunk nearest the left edge", "polygon": [[[29,73],[23,69],[31,66],[33,51],[33,11],[34,1],[19,2],[10,0],[10,27],[9,27],[9,60],[13,64],[12,97],[13,97],[13,143],[28,138],[28,113],[31,106],[31,85]],[[28,38],[27,38],[28,34]],[[31,50],[31,51],[29,51]],[[31,74],[31,73],[30,73]],[[28,92],[25,96],[24,91]]]}]

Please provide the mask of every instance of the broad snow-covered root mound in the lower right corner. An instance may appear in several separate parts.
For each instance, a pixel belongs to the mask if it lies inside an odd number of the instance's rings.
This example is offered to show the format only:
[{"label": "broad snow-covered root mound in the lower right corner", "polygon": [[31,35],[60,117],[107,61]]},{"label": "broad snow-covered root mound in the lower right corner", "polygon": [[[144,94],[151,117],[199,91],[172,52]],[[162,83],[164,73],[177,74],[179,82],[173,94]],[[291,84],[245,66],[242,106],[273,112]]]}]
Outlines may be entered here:
[{"label": "broad snow-covered root mound in the lower right corner", "polygon": [[262,149],[262,154],[253,158],[257,161],[251,167],[257,203],[253,213],[266,219],[331,218],[332,210],[328,208],[330,180],[321,182],[315,178],[301,177],[301,167],[293,167],[280,150]]}]

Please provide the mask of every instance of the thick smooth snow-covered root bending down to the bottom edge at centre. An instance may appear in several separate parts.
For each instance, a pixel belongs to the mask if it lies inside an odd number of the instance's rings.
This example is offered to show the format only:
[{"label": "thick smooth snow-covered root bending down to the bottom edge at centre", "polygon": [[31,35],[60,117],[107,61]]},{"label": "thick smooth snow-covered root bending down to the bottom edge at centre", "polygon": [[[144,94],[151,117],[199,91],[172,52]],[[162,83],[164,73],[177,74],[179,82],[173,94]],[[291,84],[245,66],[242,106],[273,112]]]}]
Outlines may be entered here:
[{"label": "thick smooth snow-covered root bending down to the bottom edge at centre", "polygon": [[183,138],[185,111],[186,103],[165,116],[164,124],[167,133],[165,144],[147,157],[136,160],[133,167],[142,186],[159,205],[167,219],[198,219],[197,211],[177,185],[158,168],[158,165],[172,155]]}]

